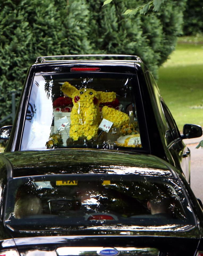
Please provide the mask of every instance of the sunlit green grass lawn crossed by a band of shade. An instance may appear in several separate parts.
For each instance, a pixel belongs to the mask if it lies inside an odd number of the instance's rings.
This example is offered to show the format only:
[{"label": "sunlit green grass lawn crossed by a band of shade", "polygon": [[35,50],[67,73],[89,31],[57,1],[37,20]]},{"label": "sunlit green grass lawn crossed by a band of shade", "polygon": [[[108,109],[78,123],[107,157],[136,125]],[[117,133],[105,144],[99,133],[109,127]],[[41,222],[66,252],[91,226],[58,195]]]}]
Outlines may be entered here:
[{"label": "sunlit green grass lawn crossed by a band of shade", "polygon": [[179,38],[158,86],[180,131],[186,123],[203,127],[203,36]]}]

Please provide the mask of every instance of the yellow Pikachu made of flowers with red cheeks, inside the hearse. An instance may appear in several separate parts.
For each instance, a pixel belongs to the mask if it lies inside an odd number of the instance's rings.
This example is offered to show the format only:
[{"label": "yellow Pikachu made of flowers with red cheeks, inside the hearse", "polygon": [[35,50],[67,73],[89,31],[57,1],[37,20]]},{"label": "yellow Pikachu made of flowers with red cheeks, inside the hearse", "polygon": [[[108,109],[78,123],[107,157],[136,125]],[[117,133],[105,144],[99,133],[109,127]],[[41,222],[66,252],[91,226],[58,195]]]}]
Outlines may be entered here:
[{"label": "yellow Pikachu made of flowers with red cheeks, inside the hearse", "polygon": [[[79,137],[83,136],[86,137],[87,140],[96,137],[101,122],[99,104],[100,102],[114,101],[116,99],[116,93],[98,92],[87,88],[78,90],[69,82],[64,82],[61,86],[61,91],[73,100],[73,109],[70,115],[70,137],[73,138],[73,140],[78,140]],[[115,121],[115,127],[129,122],[127,114],[108,107],[103,107],[103,109],[103,118],[112,122]]]}]

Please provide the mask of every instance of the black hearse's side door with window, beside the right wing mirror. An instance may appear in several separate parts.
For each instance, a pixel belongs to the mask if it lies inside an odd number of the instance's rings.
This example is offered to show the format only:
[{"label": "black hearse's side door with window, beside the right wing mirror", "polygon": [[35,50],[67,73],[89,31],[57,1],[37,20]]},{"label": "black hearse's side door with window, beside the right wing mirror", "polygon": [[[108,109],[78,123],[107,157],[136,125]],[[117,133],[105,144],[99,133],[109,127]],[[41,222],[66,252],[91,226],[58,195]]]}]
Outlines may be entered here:
[{"label": "black hearse's side door with window, beside the right wing mirror", "polygon": [[186,180],[190,182],[190,150],[181,139],[179,129],[168,107],[163,101],[161,101],[161,104],[168,125],[168,131],[166,131],[167,147],[171,152],[176,167],[183,171]]}]

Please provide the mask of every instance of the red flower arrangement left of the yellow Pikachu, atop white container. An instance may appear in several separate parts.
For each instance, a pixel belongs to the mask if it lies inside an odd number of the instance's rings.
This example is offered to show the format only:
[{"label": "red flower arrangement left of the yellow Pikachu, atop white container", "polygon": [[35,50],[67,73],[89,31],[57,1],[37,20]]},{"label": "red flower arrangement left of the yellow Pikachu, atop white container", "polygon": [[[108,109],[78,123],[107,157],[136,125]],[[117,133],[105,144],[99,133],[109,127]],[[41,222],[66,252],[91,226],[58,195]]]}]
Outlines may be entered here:
[{"label": "red flower arrangement left of the yellow Pikachu, atop white container", "polygon": [[54,100],[53,107],[55,111],[70,112],[73,107],[73,101],[70,97],[61,96]]}]

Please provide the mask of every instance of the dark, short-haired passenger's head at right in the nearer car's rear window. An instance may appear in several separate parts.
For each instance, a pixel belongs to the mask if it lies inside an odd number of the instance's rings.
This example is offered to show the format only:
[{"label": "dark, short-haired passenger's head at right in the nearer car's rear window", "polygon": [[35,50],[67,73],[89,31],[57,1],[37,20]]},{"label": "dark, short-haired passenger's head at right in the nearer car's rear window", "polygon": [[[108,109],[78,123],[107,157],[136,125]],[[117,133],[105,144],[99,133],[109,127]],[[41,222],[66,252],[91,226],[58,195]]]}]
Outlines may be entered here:
[{"label": "dark, short-haired passenger's head at right in the nearer car's rear window", "polygon": [[172,218],[174,204],[171,203],[171,198],[156,198],[147,202],[147,208],[154,217]]}]

